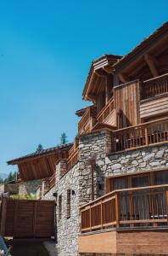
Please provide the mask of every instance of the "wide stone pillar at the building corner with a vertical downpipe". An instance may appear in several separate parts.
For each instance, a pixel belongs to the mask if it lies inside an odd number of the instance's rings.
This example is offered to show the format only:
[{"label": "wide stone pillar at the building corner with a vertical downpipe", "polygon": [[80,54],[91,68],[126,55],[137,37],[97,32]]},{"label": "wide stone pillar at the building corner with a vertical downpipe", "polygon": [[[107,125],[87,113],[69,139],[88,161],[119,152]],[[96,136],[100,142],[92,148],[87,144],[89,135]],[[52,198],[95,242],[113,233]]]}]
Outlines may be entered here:
[{"label": "wide stone pillar at the building corner with a vertical downpipe", "polygon": [[80,204],[92,200],[92,167],[90,160],[95,160],[93,173],[94,199],[104,195],[105,156],[111,151],[111,131],[95,131],[85,134],[79,140],[79,185]]}]

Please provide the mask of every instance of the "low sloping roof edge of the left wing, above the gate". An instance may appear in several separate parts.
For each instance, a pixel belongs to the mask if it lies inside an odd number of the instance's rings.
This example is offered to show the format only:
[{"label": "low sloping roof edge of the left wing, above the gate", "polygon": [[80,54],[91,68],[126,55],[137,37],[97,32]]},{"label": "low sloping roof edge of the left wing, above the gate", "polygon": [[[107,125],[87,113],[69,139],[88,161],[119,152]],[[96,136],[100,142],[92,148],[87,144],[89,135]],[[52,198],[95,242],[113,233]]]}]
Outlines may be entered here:
[{"label": "low sloping roof edge of the left wing, above the gate", "polygon": [[68,149],[72,145],[73,145],[73,143],[68,143],[68,144],[60,145],[58,147],[42,149],[41,151],[36,151],[34,153],[26,154],[24,156],[21,156],[19,158],[15,158],[14,160],[9,160],[7,163],[8,163],[8,165],[15,165],[20,160],[26,160],[26,159],[29,159],[29,158],[34,158],[34,157],[45,155],[45,154],[52,154],[52,153],[54,154],[54,153],[57,153],[59,151],[59,149],[60,150]]}]

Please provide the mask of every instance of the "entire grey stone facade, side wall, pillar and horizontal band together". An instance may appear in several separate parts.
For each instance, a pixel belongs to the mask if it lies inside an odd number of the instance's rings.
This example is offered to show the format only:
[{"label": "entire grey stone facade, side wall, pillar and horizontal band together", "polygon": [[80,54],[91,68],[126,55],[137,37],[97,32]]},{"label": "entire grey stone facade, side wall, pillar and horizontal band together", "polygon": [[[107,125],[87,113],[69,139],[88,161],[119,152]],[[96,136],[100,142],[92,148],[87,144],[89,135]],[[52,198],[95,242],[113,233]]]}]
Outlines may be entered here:
[{"label": "entire grey stone facade, side wall, pillar and horizontal band together", "polygon": [[[61,160],[56,166],[55,186],[42,196],[42,199],[57,202],[58,243],[56,247],[59,255],[78,255],[79,207],[92,200],[90,160],[95,160],[94,199],[104,195],[106,177],[168,168],[168,145],[166,143],[158,147],[137,148],[125,153],[111,154],[111,132],[103,130],[81,136],[79,148],[79,161],[76,166],[65,173],[65,161]],[[70,218],[67,218],[68,189],[70,189]],[[56,197],[53,193],[56,193]],[[60,195],[62,195],[61,218]]]}]

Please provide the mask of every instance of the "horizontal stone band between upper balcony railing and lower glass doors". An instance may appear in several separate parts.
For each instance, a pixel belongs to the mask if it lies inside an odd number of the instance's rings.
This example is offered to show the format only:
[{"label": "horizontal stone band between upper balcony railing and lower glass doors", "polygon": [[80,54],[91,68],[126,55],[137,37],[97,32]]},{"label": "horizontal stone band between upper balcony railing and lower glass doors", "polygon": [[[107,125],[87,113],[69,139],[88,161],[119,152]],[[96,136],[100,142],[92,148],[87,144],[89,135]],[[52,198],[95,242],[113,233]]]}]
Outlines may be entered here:
[{"label": "horizontal stone band between upper balcony railing and lower glass doors", "polygon": [[109,154],[100,167],[104,168],[105,177],[168,168],[168,144]]}]

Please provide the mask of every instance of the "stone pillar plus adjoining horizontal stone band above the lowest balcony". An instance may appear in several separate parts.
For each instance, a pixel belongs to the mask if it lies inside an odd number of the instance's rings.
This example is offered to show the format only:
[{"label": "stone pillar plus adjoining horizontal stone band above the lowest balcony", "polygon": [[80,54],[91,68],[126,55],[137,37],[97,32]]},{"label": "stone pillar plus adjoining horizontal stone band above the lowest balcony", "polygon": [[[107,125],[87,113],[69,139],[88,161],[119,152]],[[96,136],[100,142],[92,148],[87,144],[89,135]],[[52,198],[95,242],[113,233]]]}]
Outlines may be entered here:
[{"label": "stone pillar plus adjoining horizontal stone band above the lowest balcony", "polygon": [[96,160],[94,198],[105,193],[105,177],[168,168],[168,144],[111,154],[110,132],[98,131],[80,138],[80,204],[91,201],[92,177],[89,159]]}]

